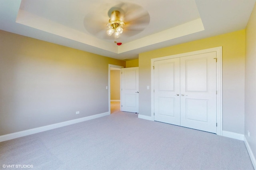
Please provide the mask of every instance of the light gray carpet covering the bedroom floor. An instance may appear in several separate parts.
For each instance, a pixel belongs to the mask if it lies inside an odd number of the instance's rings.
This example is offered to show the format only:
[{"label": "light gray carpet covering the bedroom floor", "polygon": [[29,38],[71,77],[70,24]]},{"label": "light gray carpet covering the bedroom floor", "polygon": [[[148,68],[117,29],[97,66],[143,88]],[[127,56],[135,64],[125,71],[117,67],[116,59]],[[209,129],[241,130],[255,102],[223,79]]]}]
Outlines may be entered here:
[{"label": "light gray carpet covering the bedroom floor", "polygon": [[116,112],[0,142],[2,165],[36,170],[253,170],[243,141]]}]

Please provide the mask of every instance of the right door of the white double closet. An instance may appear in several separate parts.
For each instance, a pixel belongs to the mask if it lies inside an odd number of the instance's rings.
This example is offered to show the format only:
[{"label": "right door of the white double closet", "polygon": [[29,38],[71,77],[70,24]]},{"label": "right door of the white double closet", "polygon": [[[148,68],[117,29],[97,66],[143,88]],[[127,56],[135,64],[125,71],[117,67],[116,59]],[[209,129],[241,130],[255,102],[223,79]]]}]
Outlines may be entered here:
[{"label": "right door of the white double closet", "polygon": [[180,58],[180,125],[216,133],[216,52]]}]

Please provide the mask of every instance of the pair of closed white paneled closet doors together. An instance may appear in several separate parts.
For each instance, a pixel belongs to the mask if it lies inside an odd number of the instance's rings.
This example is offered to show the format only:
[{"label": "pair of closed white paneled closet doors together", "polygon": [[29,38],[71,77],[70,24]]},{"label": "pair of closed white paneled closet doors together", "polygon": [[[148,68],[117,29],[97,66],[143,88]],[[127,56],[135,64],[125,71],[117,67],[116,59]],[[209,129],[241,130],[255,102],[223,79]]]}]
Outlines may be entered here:
[{"label": "pair of closed white paneled closet doors together", "polygon": [[216,133],[216,52],[154,61],[154,120]]}]

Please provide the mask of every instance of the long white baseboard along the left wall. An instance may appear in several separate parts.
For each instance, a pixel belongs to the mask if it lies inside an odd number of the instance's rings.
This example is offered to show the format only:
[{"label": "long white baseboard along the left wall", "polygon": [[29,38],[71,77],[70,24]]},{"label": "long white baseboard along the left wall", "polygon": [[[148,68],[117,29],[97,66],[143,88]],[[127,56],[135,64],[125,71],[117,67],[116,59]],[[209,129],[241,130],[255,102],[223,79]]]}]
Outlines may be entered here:
[{"label": "long white baseboard along the left wall", "polygon": [[43,126],[43,127],[23,130],[23,131],[20,131],[20,132],[5,134],[5,135],[0,136],[0,142],[6,141],[6,140],[11,140],[11,139],[14,139],[14,138],[19,138],[19,137],[22,137],[22,136],[27,136],[27,135],[30,135],[30,134],[44,132],[46,130],[51,130],[51,129],[54,129],[54,128],[64,127],[64,126],[72,125],[72,124],[75,124],[75,123],[88,121],[88,120],[91,120],[91,119],[96,119],[96,118],[107,116],[107,115],[109,115],[109,112],[100,113],[100,114],[92,115],[92,116],[88,116],[88,117],[82,117],[82,118],[79,118],[79,119],[73,119],[73,120],[70,120],[70,121],[55,123],[55,124],[47,125],[47,126]]}]

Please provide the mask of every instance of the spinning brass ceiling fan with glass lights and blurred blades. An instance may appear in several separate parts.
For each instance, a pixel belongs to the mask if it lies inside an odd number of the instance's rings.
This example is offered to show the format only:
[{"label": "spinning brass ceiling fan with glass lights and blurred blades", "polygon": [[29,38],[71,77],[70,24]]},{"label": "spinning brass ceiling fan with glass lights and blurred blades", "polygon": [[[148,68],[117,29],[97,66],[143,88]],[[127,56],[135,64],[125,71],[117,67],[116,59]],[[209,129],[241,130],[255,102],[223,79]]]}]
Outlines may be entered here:
[{"label": "spinning brass ceiling fan with glass lights and blurred blades", "polygon": [[139,34],[149,22],[150,16],[142,6],[122,2],[114,6],[113,4],[97,6],[96,10],[88,12],[85,16],[84,27],[88,33],[97,38],[114,39],[114,43],[117,43],[116,39],[119,37],[125,40],[125,38]]}]

